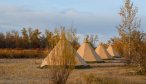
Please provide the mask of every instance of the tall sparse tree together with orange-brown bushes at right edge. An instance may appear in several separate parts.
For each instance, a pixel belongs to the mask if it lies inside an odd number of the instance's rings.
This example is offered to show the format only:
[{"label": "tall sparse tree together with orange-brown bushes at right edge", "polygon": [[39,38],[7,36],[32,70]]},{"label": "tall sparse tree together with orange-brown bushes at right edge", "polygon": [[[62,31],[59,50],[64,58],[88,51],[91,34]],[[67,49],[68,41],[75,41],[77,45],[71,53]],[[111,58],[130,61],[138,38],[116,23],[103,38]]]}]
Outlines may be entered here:
[{"label": "tall sparse tree together with orange-brown bushes at right edge", "polygon": [[140,31],[140,20],[137,19],[137,7],[131,0],[125,0],[119,15],[122,22],[118,27],[120,37],[113,38],[112,43],[126,58],[127,64],[136,68],[140,74],[146,73],[145,34]]}]

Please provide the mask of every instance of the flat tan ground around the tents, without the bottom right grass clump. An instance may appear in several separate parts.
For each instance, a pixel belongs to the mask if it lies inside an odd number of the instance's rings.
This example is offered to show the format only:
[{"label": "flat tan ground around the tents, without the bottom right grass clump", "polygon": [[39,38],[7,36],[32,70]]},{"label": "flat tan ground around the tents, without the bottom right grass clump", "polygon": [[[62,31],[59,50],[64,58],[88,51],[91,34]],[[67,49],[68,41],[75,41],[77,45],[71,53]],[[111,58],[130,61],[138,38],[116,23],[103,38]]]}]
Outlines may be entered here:
[{"label": "flat tan ground around the tents, without the bottom right grass clump", "polygon": [[[49,84],[48,69],[38,68],[42,59],[0,59],[0,84]],[[127,74],[132,72],[123,59],[92,63],[91,68],[75,69],[69,81],[80,79],[84,74],[111,77],[129,84],[146,84],[146,76]]]}]

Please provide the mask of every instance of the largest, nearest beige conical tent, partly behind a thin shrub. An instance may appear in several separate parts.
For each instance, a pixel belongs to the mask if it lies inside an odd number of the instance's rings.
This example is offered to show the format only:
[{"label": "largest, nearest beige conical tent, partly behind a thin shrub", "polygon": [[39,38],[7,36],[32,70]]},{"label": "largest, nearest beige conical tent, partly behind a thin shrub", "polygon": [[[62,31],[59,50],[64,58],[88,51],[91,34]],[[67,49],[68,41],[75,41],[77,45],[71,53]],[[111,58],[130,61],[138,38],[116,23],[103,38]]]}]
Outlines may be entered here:
[{"label": "largest, nearest beige conical tent, partly behind a thin shrub", "polygon": [[46,65],[75,65],[88,66],[81,56],[73,49],[70,42],[66,40],[65,34],[61,34],[58,44],[43,60],[41,67]]}]

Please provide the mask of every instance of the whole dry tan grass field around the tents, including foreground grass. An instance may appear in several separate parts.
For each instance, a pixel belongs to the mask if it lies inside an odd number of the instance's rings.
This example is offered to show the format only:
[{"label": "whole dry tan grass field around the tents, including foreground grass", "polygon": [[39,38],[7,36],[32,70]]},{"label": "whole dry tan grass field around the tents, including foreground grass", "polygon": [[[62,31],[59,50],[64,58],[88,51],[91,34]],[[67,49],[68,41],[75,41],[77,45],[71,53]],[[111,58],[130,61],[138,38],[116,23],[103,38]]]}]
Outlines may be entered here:
[{"label": "whole dry tan grass field around the tents, including foreground grass", "polygon": [[[0,59],[0,84],[49,84],[49,70],[37,68],[41,62],[42,59]],[[131,68],[107,65],[101,63],[89,69],[75,69],[68,84],[89,81],[92,82],[89,84],[146,84],[146,76],[129,74]]]}]

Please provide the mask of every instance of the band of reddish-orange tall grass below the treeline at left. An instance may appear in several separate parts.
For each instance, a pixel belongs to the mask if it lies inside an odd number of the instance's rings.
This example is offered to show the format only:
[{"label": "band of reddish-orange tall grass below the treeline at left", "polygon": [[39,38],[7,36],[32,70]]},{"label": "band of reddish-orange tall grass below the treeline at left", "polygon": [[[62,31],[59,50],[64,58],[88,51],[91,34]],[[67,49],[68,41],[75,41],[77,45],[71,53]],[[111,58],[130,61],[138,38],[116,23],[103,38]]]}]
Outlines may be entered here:
[{"label": "band of reddish-orange tall grass below the treeline at left", "polygon": [[44,58],[48,50],[0,49],[0,58]]}]

